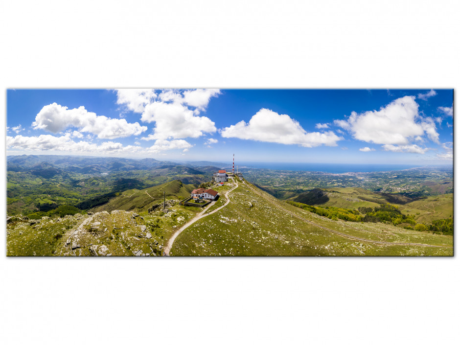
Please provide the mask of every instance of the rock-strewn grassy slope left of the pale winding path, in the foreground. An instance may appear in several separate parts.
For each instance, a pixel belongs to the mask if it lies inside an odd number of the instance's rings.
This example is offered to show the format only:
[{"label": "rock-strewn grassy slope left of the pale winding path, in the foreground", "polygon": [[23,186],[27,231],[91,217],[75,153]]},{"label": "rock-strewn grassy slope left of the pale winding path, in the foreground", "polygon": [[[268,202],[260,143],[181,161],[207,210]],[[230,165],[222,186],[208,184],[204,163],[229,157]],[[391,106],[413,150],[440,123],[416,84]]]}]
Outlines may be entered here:
[{"label": "rock-strewn grassy slope left of the pale winding path, in the foreground", "polygon": [[[161,248],[171,234],[192,218],[199,210],[195,207],[172,207],[163,214],[155,212],[134,217],[133,212],[99,212],[90,215],[76,214],[64,218],[41,219],[38,224],[29,221],[13,221],[7,224],[7,256],[89,256],[90,248],[106,246],[106,254],[133,256],[138,251],[146,255],[160,255]],[[75,238],[74,231],[83,222],[79,234],[81,248],[71,250],[67,239]],[[96,223],[96,222],[99,222]],[[146,231],[139,226],[145,225]],[[147,238],[147,232],[151,238]]]}]

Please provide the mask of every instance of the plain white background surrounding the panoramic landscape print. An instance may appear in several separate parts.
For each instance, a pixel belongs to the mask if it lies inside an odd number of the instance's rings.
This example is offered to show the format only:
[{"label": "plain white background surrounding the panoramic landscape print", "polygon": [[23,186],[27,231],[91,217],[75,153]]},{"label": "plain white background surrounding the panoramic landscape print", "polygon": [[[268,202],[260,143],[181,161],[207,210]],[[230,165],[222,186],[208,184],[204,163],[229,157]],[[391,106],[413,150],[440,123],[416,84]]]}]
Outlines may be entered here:
[{"label": "plain white background surrounding the panoramic landscape print", "polygon": [[[16,0],[0,12],[5,113],[6,88],[459,86],[454,0]],[[458,257],[0,263],[2,344],[459,338]]]}]

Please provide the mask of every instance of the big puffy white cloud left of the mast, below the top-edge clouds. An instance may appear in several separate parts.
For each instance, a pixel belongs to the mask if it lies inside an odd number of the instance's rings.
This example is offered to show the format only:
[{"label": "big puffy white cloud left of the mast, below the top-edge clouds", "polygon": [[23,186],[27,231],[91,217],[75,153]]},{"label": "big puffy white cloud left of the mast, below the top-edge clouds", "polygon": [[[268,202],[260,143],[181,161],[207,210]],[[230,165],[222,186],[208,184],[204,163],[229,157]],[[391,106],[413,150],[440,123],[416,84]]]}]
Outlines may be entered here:
[{"label": "big puffy white cloud left of the mast, below the top-edge clouds", "polygon": [[214,122],[208,117],[196,116],[192,110],[179,103],[148,104],[141,120],[155,122],[153,139],[198,138],[204,133],[216,132]]}]

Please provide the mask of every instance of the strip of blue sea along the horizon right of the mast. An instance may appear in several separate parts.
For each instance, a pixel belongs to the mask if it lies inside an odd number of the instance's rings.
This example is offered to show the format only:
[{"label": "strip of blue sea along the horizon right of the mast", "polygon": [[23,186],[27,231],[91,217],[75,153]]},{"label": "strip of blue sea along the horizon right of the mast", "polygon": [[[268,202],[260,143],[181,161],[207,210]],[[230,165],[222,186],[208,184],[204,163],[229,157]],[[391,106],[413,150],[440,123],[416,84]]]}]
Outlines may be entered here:
[{"label": "strip of blue sea along the horizon right of the mast", "polygon": [[[321,171],[328,173],[345,172],[376,172],[376,171],[396,171],[416,168],[423,165],[416,164],[344,164],[344,163],[276,163],[276,162],[246,162],[239,164],[250,168],[262,168],[273,170],[291,171]],[[236,170],[236,165],[235,165]]]}]

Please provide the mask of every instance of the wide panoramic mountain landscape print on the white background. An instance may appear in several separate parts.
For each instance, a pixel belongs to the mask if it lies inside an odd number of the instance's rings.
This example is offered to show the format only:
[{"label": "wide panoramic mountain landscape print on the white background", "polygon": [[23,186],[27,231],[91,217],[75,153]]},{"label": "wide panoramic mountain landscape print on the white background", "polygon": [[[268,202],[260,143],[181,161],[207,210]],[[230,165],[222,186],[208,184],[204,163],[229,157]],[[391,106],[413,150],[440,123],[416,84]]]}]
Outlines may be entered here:
[{"label": "wide panoramic mountain landscape print on the white background", "polygon": [[7,256],[452,256],[453,90],[7,90]]}]

